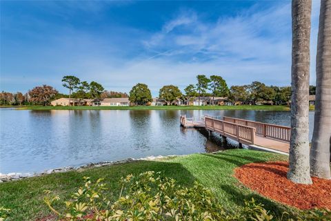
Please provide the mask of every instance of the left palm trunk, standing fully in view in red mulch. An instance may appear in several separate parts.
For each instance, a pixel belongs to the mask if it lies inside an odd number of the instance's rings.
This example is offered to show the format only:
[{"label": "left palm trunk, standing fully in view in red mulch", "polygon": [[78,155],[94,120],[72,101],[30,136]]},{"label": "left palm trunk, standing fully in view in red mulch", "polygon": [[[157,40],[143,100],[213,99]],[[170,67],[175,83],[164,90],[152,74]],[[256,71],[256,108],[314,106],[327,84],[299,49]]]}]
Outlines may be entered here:
[{"label": "left palm trunk, standing fully in view in red mulch", "polygon": [[312,184],[308,119],[311,10],[311,0],[292,0],[292,102],[288,179],[301,184]]}]

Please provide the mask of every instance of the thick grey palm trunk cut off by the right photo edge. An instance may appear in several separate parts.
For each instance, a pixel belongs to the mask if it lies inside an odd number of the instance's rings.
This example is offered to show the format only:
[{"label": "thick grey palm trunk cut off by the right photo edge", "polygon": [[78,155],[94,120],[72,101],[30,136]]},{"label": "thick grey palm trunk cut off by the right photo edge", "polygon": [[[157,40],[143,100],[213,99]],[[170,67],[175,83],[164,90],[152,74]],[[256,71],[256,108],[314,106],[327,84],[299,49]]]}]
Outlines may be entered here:
[{"label": "thick grey palm trunk cut off by the right photo edge", "polygon": [[316,57],[314,133],[310,149],[310,174],[331,179],[331,1],[321,0]]}]

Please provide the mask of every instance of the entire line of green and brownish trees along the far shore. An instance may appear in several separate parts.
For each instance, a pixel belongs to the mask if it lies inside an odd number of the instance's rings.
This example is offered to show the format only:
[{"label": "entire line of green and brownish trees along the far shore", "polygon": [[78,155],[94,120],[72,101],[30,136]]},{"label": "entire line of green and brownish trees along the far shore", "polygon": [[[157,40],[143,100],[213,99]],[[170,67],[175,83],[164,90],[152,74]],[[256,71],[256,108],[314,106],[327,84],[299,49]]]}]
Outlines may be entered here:
[{"label": "entire line of green and brownish trees along the far shore", "polygon": [[[73,75],[64,76],[63,86],[69,89],[69,95],[59,93],[52,86],[36,86],[28,93],[23,95],[21,92],[0,93],[0,105],[29,105],[42,104],[47,105],[54,99],[61,97],[74,99],[104,99],[112,97],[128,97],[130,102],[137,105],[146,105],[152,102],[152,94],[146,84],[137,84],[132,87],[129,95],[116,91],[104,90],[103,86],[96,81],[81,81]],[[314,95],[316,86],[310,86],[310,95]],[[252,84],[243,86],[228,85],[219,75],[211,75],[209,78],[205,75],[197,75],[197,83],[189,84],[184,88],[183,93],[178,86],[166,85],[159,90],[159,99],[171,105],[177,99],[188,99],[200,97],[228,97],[228,101],[234,104],[288,104],[291,97],[291,87],[267,86],[260,81],[253,81]]]}]

